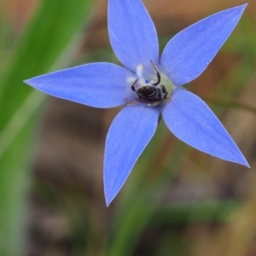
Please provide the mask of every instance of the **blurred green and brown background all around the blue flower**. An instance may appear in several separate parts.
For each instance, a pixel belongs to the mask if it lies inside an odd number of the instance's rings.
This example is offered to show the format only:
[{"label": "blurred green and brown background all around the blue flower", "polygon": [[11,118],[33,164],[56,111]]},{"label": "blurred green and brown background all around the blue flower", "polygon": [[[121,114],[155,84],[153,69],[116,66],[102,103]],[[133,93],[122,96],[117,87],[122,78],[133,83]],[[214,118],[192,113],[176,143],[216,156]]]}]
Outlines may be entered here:
[{"label": "blurred green and brown background all around the blue flower", "polygon": [[[93,61],[118,63],[107,0],[0,2],[0,255],[256,255],[256,2],[188,89],[218,115],[251,169],[173,137],[160,122],[110,207],[102,161],[118,108],[96,109],[22,80]],[[172,36],[240,0],[144,0]]]}]

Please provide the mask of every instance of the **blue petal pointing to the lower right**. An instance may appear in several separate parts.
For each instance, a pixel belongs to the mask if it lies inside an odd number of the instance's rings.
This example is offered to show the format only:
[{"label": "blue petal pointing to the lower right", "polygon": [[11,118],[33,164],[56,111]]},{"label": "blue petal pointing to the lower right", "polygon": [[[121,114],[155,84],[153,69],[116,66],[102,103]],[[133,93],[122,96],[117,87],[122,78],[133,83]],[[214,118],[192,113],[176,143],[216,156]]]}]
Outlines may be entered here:
[{"label": "blue petal pointing to the lower right", "polygon": [[162,116],[172,133],[184,143],[220,159],[249,167],[224,126],[195,94],[177,88]]}]

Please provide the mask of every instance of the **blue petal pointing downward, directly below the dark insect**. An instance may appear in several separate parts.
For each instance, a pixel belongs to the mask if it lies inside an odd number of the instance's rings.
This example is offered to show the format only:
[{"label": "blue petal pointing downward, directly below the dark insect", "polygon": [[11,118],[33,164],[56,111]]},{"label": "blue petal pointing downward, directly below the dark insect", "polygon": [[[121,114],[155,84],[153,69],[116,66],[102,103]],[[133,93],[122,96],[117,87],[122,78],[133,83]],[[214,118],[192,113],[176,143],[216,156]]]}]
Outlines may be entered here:
[{"label": "blue petal pointing downward, directly below the dark insect", "polygon": [[132,167],[154,135],[159,108],[126,106],[113,119],[105,147],[104,191],[107,206],[118,194]]}]

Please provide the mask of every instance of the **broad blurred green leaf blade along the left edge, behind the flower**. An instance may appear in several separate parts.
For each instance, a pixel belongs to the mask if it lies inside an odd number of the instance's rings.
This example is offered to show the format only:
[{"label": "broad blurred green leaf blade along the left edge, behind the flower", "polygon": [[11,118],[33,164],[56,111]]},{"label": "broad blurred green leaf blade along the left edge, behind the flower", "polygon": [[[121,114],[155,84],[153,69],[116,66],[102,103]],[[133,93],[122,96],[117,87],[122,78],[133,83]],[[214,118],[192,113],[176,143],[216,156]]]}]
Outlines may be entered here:
[{"label": "broad blurred green leaf blade along the left edge, behind the flower", "polygon": [[67,67],[79,32],[89,20],[92,3],[42,1],[0,81],[0,255],[24,254],[28,159],[38,109],[44,102],[42,93],[22,81],[56,67]]}]

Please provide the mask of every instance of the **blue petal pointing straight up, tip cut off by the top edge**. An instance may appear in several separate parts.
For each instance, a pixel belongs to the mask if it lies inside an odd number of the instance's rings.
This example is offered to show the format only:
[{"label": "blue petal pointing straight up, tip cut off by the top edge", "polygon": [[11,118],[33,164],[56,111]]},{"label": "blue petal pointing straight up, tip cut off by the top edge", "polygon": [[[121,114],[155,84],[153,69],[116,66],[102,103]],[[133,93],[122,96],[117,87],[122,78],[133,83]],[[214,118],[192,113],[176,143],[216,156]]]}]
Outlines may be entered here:
[{"label": "blue petal pointing straight up, tip cut off by the top edge", "polygon": [[159,45],[154,23],[141,0],[110,0],[108,34],[115,55],[135,71],[138,64],[152,71],[159,63]]}]

